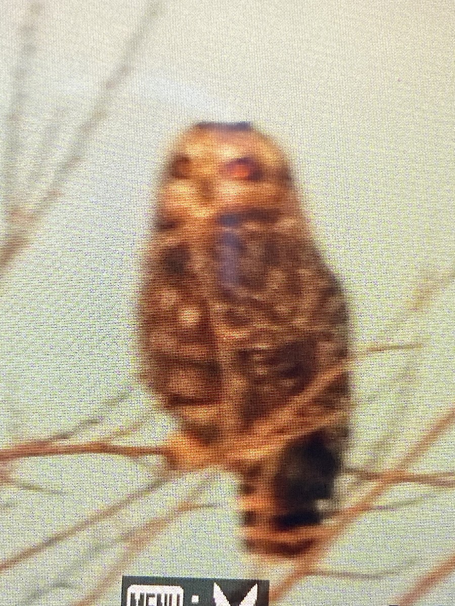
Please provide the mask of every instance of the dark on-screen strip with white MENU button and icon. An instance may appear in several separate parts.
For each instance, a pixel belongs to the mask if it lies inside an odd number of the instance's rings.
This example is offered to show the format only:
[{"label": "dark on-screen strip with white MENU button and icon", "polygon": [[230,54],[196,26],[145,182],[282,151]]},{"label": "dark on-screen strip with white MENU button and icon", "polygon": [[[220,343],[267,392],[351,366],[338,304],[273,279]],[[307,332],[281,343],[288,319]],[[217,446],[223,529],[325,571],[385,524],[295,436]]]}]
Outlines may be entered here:
[{"label": "dark on-screen strip with white MENU button and icon", "polygon": [[269,606],[269,581],[124,576],[121,606]]}]

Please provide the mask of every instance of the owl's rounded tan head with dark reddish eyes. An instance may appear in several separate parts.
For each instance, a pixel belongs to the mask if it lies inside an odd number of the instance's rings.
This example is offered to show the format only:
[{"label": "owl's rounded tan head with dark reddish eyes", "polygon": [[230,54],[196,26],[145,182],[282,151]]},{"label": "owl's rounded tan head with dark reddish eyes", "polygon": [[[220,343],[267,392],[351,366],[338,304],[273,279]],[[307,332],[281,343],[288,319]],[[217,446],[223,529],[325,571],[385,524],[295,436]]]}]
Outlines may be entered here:
[{"label": "owl's rounded tan head with dark reddish eyes", "polygon": [[192,228],[229,213],[296,210],[288,161],[272,139],[248,122],[200,122],[167,159],[158,215]]}]

